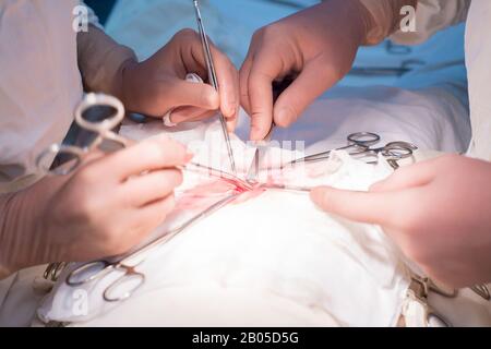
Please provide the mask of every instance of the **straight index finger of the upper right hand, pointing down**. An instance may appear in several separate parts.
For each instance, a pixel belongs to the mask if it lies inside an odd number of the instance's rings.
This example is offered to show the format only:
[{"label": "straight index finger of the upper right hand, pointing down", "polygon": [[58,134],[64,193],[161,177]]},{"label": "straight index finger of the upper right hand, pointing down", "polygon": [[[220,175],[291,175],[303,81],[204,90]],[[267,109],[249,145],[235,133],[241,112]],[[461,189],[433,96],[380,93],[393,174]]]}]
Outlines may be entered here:
[{"label": "straight index finger of the upper right hand, pointing down", "polygon": [[273,124],[273,81],[280,74],[276,56],[260,53],[254,58],[248,92],[251,107],[251,140],[262,141]]}]

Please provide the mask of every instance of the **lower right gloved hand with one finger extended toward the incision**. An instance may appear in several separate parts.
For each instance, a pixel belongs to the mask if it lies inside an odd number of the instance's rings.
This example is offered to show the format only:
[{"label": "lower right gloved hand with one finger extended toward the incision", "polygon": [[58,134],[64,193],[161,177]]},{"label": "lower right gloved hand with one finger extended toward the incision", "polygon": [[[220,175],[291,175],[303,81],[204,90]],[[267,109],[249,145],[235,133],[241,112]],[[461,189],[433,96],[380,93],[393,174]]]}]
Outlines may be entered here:
[{"label": "lower right gloved hand with one finger extended toward the incision", "polygon": [[397,170],[370,192],[320,188],[326,212],[384,228],[433,279],[491,281],[491,164],[444,156]]}]

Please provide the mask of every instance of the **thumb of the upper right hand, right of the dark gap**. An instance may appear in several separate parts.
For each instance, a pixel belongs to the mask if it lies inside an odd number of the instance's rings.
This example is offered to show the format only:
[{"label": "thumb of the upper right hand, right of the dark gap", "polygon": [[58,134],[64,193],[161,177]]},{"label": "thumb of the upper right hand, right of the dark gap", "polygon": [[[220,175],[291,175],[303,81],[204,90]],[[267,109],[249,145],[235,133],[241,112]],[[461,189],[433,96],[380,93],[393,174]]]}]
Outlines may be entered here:
[{"label": "thumb of the upper right hand, right of the dark gap", "polygon": [[294,123],[307,107],[331,88],[338,77],[324,67],[308,64],[291,85],[278,97],[274,107],[274,121],[286,128]]}]

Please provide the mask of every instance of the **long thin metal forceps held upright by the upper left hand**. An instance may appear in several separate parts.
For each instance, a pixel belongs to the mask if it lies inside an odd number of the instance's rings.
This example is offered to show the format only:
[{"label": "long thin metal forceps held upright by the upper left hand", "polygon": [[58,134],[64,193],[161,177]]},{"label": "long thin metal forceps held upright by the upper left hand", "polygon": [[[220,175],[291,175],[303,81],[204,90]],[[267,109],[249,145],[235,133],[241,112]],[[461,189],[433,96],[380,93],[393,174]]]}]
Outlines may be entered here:
[{"label": "long thin metal forceps held upright by the upper left hand", "polygon": [[[203,19],[201,16],[200,4],[199,4],[197,0],[193,0],[193,3],[194,3],[194,10],[195,10],[194,12],[196,15],[196,21],[197,21],[197,29],[200,32],[201,44],[203,46],[203,53],[205,57],[206,68],[208,71],[208,80],[209,80],[209,83],[212,84],[212,86],[218,92],[218,79],[216,76],[215,64],[213,62],[212,50],[209,49],[208,37],[206,35],[206,32],[205,32],[205,28],[203,25]],[[227,152],[228,152],[228,158],[230,160],[230,167],[231,167],[232,173],[235,176],[237,176],[236,161],[233,159],[233,149],[231,147],[230,136],[228,135],[227,122],[225,121],[225,117],[221,112],[218,112],[218,117],[220,119],[221,133],[224,134],[225,143],[227,145]]]}]

